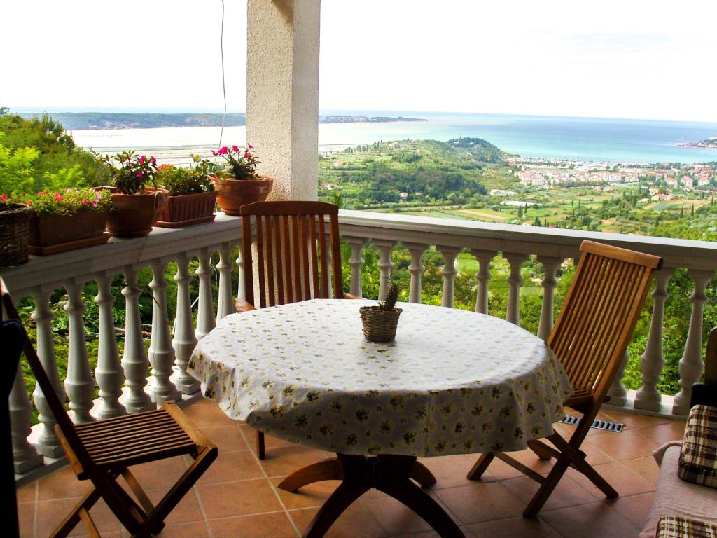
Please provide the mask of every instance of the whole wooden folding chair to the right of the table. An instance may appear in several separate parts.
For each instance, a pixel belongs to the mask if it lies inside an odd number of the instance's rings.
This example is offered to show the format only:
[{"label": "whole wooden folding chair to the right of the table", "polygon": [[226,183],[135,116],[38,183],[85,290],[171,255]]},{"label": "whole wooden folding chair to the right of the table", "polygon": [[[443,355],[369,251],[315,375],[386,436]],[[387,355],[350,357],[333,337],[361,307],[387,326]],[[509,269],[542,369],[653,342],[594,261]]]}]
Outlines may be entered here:
[{"label": "whole wooden folding chair to the right of the table", "polygon": [[575,277],[547,343],[573,385],[574,395],[564,405],[582,413],[579,425],[569,440],[557,432],[549,435],[554,446],[528,441],[541,459],[556,458],[547,477],[504,453],[484,453],[468,473],[470,480],[478,480],[493,458],[499,458],[541,483],[523,511],[526,517],[540,511],[568,467],[587,476],[609,499],[617,497],[617,491],[585,461],[580,445],[600,406],[609,399],[607,392],[630,343],[652,273],[663,260],[592,241],[582,242],[580,250]]}]

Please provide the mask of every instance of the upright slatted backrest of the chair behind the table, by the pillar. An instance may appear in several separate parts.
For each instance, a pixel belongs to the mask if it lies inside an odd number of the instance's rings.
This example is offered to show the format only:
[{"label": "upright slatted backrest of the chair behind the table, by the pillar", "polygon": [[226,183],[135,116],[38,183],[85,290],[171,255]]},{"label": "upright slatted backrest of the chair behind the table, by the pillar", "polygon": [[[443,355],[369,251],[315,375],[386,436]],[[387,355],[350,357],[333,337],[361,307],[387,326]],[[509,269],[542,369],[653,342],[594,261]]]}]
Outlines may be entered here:
[{"label": "upright slatted backrest of the chair behind the table, by the pillar", "polygon": [[[343,297],[338,206],[324,202],[257,202],[242,206],[239,214],[244,295],[249,303],[264,308],[310,298],[330,298],[329,258],[333,296]],[[256,260],[252,253],[252,217],[256,222]],[[259,304],[254,297],[254,261],[259,277]]]}]

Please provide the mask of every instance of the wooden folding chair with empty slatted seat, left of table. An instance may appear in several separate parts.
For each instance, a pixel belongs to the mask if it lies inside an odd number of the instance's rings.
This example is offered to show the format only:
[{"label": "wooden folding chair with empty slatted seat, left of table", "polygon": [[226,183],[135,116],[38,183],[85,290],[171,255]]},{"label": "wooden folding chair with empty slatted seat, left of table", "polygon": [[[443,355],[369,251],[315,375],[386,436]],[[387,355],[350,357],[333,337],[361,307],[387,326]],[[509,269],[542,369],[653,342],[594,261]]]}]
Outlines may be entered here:
[{"label": "wooden folding chair with empty slatted seat, left of table", "polygon": [[[11,297],[4,290],[2,305],[9,318],[19,319]],[[166,516],[217,458],[217,447],[191,425],[174,402],[155,411],[72,424],[29,339],[25,341],[24,354],[57,420],[55,433],[72,470],[78,479],[89,480],[93,486],[51,536],[67,536],[81,520],[90,537],[99,537],[90,516],[90,508],[99,499],[105,500],[133,537],[160,532]],[[182,454],[189,454],[194,462],[161,501],[153,505],[129,467]],[[137,501],[120,486],[119,476],[125,479]]]}]

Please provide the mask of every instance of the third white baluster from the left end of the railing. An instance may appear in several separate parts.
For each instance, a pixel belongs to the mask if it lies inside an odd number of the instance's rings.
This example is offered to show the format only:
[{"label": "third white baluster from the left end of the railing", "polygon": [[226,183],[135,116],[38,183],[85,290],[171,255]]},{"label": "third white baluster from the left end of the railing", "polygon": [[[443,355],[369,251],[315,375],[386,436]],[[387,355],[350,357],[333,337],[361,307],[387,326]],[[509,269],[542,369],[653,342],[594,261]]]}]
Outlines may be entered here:
[{"label": "third white baluster from the left end of the railing", "polygon": [[95,396],[95,379],[90,372],[90,361],[87,360],[85,345],[85,321],[82,313],[85,303],[82,302],[81,280],[70,280],[65,284],[67,290],[67,377],[65,392],[70,398],[70,410],[74,412],[75,423],[87,423],[95,420],[90,415],[92,398]]}]

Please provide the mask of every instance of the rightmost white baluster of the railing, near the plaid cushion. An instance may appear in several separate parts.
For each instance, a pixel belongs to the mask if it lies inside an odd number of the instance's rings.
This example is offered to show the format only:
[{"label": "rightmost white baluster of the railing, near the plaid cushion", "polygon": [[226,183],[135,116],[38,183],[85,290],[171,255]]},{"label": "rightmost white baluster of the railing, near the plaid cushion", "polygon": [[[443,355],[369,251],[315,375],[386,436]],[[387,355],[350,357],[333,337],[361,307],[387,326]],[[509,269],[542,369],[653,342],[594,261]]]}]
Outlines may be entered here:
[{"label": "rightmost white baluster of the railing, near the plaid cushion", "polygon": [[690,410],[692,385],[702,376],[705,364],[702,360],[702,314],[707,301],[706,288],[712,279],[713,271],[689,270],[688,274],[695,283],[695,291],[690,296],[692,301],[692,315],[690,316],[690,330],[685,342],[685,351],[680,359],[680,387],[682,390],[675,396],[673,413],[686,415]]}]

